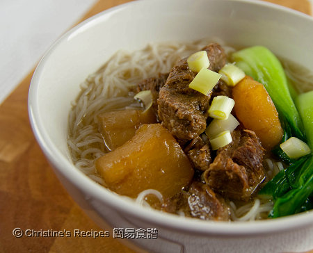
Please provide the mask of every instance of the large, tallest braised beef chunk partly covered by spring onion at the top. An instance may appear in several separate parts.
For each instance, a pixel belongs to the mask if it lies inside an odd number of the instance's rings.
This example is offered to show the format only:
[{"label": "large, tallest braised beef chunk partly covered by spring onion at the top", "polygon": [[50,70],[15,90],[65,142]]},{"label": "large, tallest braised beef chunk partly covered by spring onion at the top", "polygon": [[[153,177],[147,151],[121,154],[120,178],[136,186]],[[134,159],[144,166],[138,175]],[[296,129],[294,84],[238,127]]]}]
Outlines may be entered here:
[{"label": "large, tallest braised beef chunk partly covered by spring onion at the top", "polygon": [[[227,58],[219,44],[209,44],[204,50],[209,57],[210,70],[217,72],[225,65]],[[206,96],[188,88],[195,74],[189,70],[187,58],[179,60],[172,68],[157,100],[159,120],[175,138],[183,142],[196,138],[207,126],[211,92]]]}]

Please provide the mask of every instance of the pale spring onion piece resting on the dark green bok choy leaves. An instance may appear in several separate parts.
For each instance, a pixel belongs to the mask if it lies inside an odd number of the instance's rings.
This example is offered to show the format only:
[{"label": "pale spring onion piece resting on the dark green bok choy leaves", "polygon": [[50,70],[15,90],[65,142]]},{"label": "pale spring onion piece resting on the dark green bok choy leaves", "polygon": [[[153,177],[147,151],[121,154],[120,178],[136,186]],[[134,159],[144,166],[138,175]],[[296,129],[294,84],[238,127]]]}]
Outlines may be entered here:
[{"label": "pale spring onion piece resting on the dark green bok choy leaves", "polygon": [[301,156],[311,153],[310,147],[296,137],[291,137],[285,142],[282,142],[282,144],[280,144],[280,148],[287,154],[287,156],[294,159],[298,159]]}]

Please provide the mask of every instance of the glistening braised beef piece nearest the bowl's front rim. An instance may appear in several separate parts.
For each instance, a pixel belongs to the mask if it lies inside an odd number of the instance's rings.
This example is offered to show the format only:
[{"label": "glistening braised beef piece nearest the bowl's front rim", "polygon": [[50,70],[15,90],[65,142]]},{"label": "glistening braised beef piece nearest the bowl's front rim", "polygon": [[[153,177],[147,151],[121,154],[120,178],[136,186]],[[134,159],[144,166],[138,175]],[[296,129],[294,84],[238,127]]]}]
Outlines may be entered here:
[{"label": "glistening braised beef piece nearest the bowl's front rim", "polygon": [[230,220],[230,209],[224,199],[205,183],[196,181],[191,183],[188,191],[166,199],[162,210],[202,220]]}]

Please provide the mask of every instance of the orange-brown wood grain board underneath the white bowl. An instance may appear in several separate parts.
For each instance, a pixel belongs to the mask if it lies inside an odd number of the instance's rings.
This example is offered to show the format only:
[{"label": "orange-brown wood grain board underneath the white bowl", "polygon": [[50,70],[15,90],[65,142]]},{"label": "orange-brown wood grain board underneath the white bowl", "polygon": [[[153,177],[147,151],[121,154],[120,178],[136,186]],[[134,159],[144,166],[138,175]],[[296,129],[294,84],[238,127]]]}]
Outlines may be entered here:
[{"label": "orange-brown wood grain board underneath the white bowl", "polygon": [[[79,21],[129,0],[102,0]],[[271,0],[311,14],[306,0]],[[136,252],[109,238],[15,238],[13,229],[100,231],[66,193],[35,141],[27,111],[33,71],[0,105],[0,252]]]}]

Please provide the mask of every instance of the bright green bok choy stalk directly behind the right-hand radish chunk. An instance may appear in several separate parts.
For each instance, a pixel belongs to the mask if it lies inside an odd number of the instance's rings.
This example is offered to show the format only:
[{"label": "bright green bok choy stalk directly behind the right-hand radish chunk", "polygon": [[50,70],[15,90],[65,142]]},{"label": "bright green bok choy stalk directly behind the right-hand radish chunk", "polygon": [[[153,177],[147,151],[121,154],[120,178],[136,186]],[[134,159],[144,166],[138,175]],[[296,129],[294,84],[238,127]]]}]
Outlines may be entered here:
[{"label": "bright green bok choy stalk directly behind the right-hand radish chunk", "polygon": [[238,67],[264,85],[280,118],[290,125],[293,136],[305,141],[303,123],[291,98],[287,77],[278,58],[261,46],[236,51],[232,56]]}]

